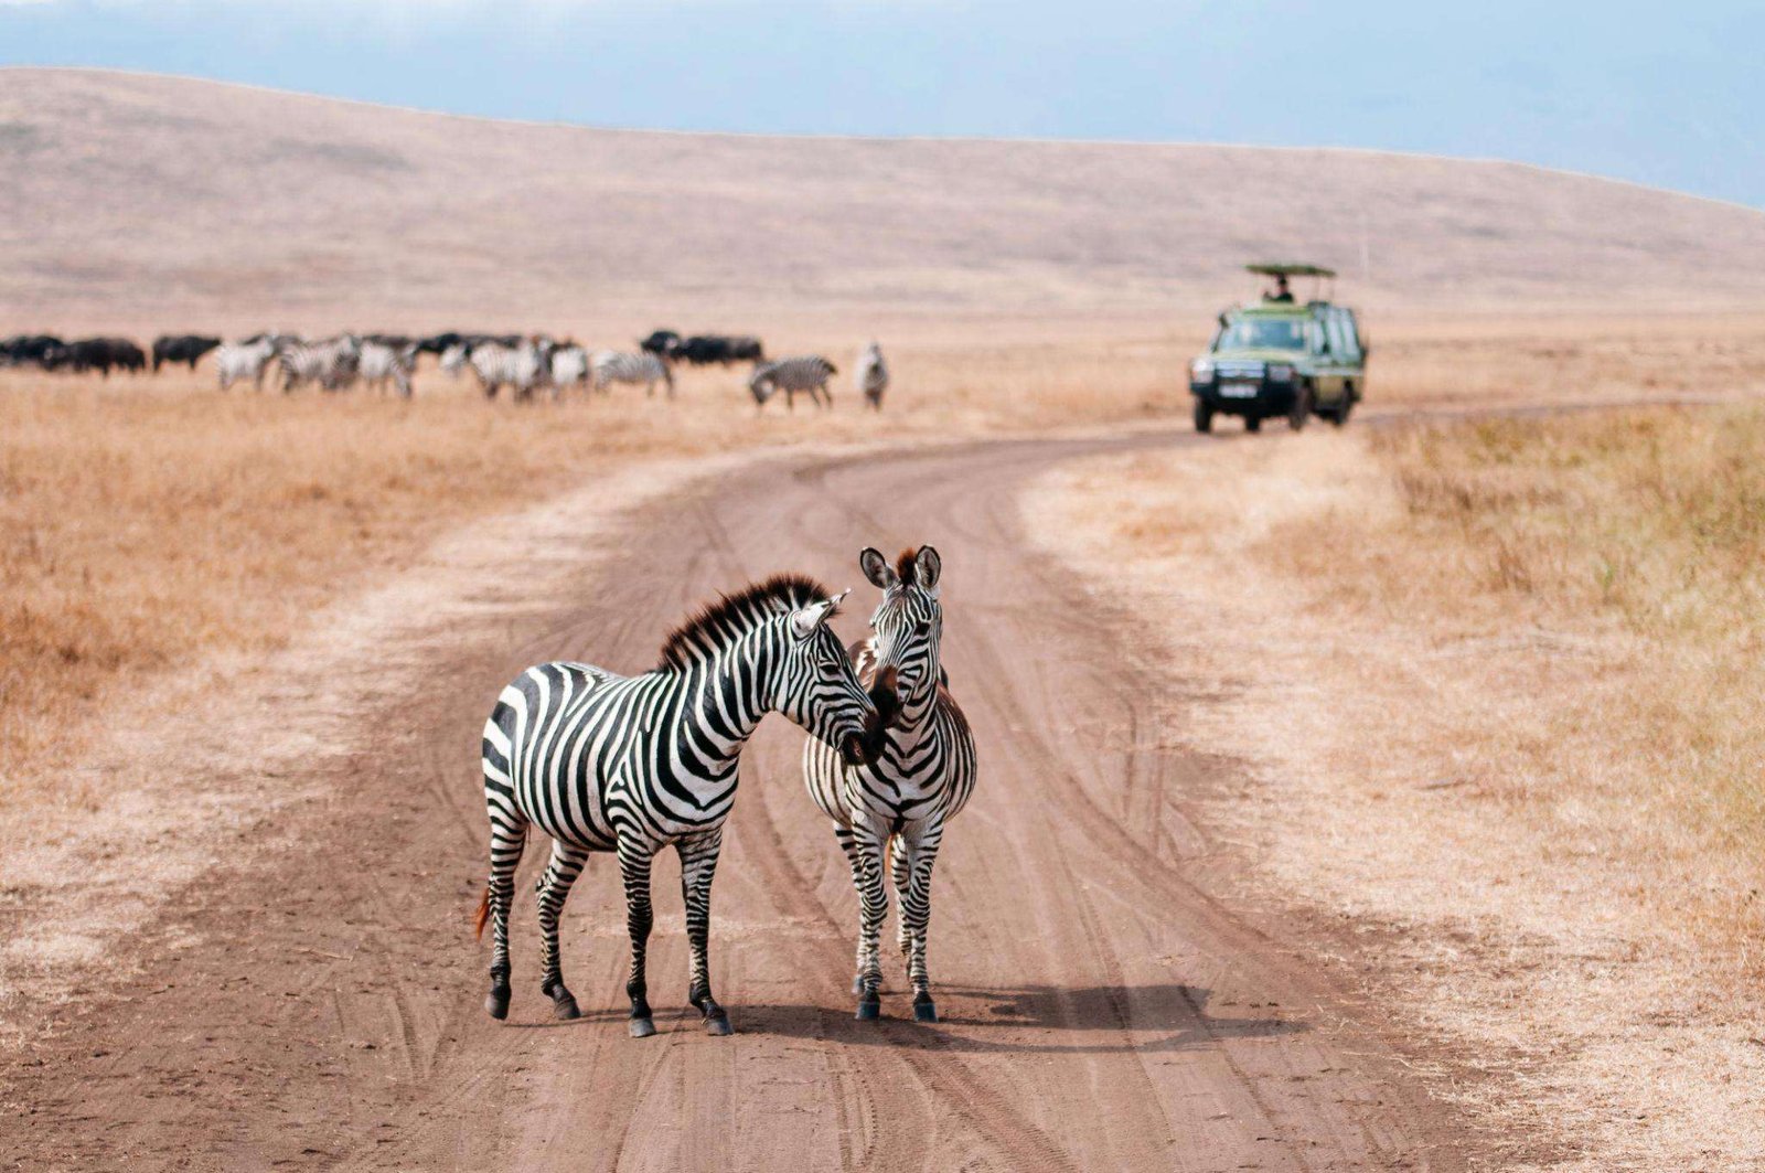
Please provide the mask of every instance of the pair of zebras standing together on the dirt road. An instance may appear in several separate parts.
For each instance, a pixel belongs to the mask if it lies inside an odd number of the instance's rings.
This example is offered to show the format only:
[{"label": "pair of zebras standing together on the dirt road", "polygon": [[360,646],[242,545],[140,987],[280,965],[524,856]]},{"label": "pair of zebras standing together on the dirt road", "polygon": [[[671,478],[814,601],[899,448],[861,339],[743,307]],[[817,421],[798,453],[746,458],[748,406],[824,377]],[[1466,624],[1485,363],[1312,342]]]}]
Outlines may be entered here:
[{"label": "pair of zebras standing together on the dirt road", "polygon": [[711,995],[711,880],[736,800],[741,751],[770,712],[808,733],[803,776],[833,820],[860,896],[858,1018],[881,1014],[877,936],[893,876],[918,1021],[937,1021],[925,942],[932,866],[944,825],[974,791],[974,738],[941,666],[943,560],[923,546],[890,562],[860,553],[882,592],[872,636],[847,652],[828,620],[851,592],[780,574],[724,595],[674,629],[660,664],[639,677],[547,662],[503,689],[484,726],[484,800],[491,871],[477,929],[491,927],[485,1010],[510,1003],[508,912],[528,832],[551,839],[537,885],[540,991],[561,1019],[581,1016],[563,982],[558,919],[595,851],[614,853],[625,887],[632,959],[628,1030],[655,1033],[646,954],[655,912],[650,873],[658,853],[680,855],[688,1002],[713,1035],[731,1033]]}]

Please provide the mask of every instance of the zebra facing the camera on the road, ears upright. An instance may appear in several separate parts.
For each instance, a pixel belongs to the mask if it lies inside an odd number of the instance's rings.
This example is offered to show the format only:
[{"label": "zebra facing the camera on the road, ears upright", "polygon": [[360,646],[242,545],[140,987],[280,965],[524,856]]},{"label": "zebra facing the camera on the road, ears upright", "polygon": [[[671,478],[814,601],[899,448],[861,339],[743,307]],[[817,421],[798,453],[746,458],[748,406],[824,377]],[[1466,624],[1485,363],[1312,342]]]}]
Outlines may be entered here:
[{"label": "zebra facing the camera on the road, ears upright", "polygon": [[858,555],[865,578],[882,590],[870,625],[852,647],[858,678],[870,687],[879,724],[867,747],[870,761],[852,765],[824,742],[803,747],[803,779],[828,818],[833,837],[852,867],[858,889],[858,1018],[881,1012],[882,966],[877,936],[888,917],[882,862],[895,880],[897,945],[913,982],[913,1016],[937,1021],[925,968],[925,936],[932,920],[932,864],[944,823],[974,793],[974,737],[950,696],[939,666],[944,611],[939,604],[943,560],[930,546],[905,549],[890,567],[874,548]]}]

